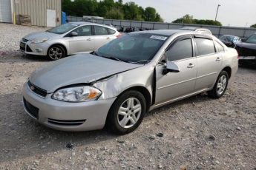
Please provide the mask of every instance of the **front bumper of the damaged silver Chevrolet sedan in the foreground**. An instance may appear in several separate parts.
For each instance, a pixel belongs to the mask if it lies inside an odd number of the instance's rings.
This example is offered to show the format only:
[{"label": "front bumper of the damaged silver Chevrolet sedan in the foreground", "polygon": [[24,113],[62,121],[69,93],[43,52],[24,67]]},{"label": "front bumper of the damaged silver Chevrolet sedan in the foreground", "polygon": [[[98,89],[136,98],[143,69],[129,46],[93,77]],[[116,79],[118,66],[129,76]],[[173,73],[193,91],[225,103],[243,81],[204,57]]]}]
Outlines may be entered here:
[{"label": "front bumper of the damaged silver Chevrolet sedan in the foreground", "polygon": [[51,95],[47,94],[42,98],[24,84],[24,109],[39,123],[63,131],[102,129],[105,126],[108,111],[116,99],[69,103],[56,101],[51,98]]}]

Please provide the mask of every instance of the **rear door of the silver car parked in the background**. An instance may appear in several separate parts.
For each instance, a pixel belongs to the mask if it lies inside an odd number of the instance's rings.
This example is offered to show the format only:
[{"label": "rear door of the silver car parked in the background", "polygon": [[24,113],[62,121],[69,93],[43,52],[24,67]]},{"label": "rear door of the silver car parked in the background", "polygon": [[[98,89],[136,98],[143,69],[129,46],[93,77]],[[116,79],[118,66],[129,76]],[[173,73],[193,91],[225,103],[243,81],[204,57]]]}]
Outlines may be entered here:
[{"label": "rear door of the silver car parked in the background", "polygon": [[94,35],[93,38],[95,40],[95,47],[94,50],[98,49],[99,47],[102,47],[102,45],[108,43],[108,41],[111,41],[115,38],[115,35],[111,33],[111,29],[108,29],[107,27],[102,27],[98,25],[94,25]]}]

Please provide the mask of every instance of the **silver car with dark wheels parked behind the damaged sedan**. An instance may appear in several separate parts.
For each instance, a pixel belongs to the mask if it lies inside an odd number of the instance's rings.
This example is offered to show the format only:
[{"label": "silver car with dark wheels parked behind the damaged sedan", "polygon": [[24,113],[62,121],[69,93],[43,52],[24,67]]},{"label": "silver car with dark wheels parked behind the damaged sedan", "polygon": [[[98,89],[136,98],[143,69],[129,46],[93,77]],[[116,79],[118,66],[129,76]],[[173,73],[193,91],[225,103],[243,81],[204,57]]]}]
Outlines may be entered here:
[{"label": "silver car with dark wheels parked behind the damaged sedan", "polygon": [[114,27],[90,22],[70,22],[41,33],[31,33],[20,41],[20,50],[29,55],[45,55],[58,60],[66,55],[92,52],[120,33]]}]

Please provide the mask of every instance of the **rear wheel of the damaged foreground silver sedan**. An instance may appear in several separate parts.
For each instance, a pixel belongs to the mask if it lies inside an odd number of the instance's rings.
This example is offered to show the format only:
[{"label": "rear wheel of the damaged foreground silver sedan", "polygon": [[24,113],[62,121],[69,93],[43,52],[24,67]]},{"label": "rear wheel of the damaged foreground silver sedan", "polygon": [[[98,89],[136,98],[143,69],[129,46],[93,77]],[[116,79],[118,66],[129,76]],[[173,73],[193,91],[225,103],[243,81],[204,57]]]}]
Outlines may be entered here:
[{"label": "rear wheel of the damaged foreground silver sedan", "polygon": [[229,74],[226,71],[221,71],[214,84],[214,88],[208,92],[210,98],[220,98],[226,92],[229,83]]}]

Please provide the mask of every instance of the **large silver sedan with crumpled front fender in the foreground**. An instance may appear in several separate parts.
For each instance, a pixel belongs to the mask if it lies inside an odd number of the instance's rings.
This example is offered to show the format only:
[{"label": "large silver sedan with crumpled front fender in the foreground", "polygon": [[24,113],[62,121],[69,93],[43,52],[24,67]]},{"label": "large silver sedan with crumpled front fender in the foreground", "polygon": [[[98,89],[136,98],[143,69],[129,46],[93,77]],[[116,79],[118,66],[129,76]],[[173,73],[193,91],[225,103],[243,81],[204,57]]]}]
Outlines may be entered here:
[{"label": "large silver sedan with crumpled front fender in the foreground", "polygon": [[202,92],[220,98],[236,72],[237,51],[213,35],[186,30],[128,33],[91,54],[37,69],[24,84],[24,109],[53,129],[85,131],[107,125],[126,134],[157,107]]}]

